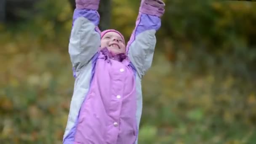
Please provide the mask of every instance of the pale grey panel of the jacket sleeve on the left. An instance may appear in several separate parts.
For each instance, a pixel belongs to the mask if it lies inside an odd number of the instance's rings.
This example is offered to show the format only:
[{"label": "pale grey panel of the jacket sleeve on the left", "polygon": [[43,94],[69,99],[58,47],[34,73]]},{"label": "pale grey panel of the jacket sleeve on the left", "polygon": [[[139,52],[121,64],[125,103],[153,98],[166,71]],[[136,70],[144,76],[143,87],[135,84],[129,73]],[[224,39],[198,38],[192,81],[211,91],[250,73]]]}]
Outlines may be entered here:
[{"label": "pale grey panel of the jacket sleeve on the left", "polygon": [[69,40],[69,55],[75,71],[88,64],[100,44],[100,35],[95,31],[95,25],[85,17],[77,18]]}]

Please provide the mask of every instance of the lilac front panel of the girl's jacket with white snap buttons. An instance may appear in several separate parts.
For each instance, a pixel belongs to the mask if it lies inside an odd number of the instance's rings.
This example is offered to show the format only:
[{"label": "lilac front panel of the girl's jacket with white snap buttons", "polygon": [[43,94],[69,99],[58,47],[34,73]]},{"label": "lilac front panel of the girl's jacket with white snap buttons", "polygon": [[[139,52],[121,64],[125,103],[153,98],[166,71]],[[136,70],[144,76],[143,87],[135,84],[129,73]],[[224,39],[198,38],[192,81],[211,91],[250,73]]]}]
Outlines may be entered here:
[{"label": "lilac front panel of the girl's jacket with white snap buttons", "polygon": [[[103,53],[105,52],[105,53]],[[133,144],[136,141],[136,88],[130,61],[100,59],[80,109],[75,144]]]}]

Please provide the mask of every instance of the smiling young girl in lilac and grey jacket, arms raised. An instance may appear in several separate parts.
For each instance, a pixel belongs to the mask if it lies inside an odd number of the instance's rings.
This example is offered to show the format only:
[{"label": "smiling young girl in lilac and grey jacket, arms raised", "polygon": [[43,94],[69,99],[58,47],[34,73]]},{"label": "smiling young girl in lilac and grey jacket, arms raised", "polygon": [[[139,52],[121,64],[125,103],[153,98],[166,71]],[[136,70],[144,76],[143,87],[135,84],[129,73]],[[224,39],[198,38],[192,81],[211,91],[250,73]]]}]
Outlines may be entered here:
[{"label": "smiling young girl in lilac and grey jacket, arms raised", "polygon": [[75,77],[64,144],[137,143],[141,78],[152,63],[165,4],[142,0],[128,45],[98,29],[99,0],[76,0],[69,54]]}]

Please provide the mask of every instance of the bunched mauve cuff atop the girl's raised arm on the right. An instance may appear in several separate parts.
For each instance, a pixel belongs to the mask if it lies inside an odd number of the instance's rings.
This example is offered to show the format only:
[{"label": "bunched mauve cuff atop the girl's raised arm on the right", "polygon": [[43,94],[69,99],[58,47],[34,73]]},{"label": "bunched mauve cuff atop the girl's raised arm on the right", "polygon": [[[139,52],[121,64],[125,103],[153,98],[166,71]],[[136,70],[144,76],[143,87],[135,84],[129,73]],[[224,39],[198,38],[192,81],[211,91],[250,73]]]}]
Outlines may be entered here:
[{"label": "bunched mauve cuff atop the girl's raised arm on the right", "polygon": [[141,0],[139,11],[152,16],[163,16],[165,3],[162,0]]}]

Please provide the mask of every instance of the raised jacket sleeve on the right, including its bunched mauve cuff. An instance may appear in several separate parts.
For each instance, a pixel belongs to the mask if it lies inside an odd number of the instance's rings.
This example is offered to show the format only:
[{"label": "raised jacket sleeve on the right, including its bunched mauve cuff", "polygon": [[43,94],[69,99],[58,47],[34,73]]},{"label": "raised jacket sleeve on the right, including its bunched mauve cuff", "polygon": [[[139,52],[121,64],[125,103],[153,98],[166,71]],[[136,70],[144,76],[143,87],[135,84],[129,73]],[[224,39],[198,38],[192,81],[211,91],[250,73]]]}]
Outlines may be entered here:
[{"label": "raised jacket sleeve on the right, including its bunched mauve cuff", "polygon": [[140,78],[151,67],[156,44],[155,33],[161,26],[164,7],[162,0],[141,0],[136,27],[126,48]]}]

